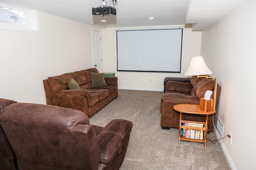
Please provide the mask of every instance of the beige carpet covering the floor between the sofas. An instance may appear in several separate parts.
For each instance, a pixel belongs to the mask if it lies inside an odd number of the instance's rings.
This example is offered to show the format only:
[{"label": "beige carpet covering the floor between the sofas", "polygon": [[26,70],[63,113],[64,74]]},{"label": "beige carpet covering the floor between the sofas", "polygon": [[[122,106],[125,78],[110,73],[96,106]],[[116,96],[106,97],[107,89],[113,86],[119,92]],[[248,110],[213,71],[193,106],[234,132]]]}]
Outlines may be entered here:
[{"label": "beige carpet covering the floor between the sofas", "polygon": [[[178,128],[160,127],[159,91],[119,90],[117,99],[90,118],[106,126],[113,119],[133,123],[130,142],[120,170],[230,170],[219,142],[180,141]],[[214,140],[213,132],[207,138]]]}]

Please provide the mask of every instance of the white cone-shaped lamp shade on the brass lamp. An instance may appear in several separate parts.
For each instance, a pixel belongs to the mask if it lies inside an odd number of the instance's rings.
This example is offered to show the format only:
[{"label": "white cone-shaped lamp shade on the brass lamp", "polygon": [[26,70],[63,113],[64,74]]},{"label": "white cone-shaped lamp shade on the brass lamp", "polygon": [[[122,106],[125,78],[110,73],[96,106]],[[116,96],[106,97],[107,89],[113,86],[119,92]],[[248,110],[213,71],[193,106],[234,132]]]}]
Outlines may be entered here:
[{"label": "white cone-shaped lamp shade on the brass lamp", "polygon": [[208,75],[212,71],[207,67],[202,56],[192,57],[188,70],[184,75]]}]

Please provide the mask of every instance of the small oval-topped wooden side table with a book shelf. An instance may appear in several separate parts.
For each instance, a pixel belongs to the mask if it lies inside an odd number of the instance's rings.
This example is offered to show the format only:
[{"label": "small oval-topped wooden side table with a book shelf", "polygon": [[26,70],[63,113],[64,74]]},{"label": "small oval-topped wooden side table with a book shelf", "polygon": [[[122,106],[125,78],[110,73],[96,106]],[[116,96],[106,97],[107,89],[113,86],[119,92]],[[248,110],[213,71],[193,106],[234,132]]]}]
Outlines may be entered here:
[{"label": "small oval-topped wooden side table with a book shelf", "polygon": [[[179,104],[179,105],[174,105],[173,107],[174,110],[180,112],[180,126],[179,126],[179,144],[180,140],[186,140],[186,141],[192,141],[192,142],[201,142],[204,143],[204,147],[206,148],[206,135],[207,135],[207,130],[208,130],[208,116],[216,113],[216,110],[214,111],[203,111],[200,110],[199,105],[190,105],[190,104]],[[204,122],[195,122],[195,121],[186,121],[182,120],[182,113],[188,113],[188,114],[196,114],[196,115],[205,115]],[[203,127],[190,127],[190,126],[183,126],[184,123],[199,123],[203,124]],[[185,138],[183,134],[181,134],[181,129],[190,129],[190,130],[203,130],[203,139],[195,139],[195,138]]]}]

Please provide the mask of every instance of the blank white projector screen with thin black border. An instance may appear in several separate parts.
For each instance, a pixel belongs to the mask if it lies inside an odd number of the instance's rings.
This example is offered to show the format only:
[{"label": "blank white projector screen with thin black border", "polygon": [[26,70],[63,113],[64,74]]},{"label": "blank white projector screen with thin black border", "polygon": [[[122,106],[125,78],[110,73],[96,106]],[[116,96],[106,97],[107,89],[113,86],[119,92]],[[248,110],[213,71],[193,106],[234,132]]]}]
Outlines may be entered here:
[{"label": "blank white projector screen with thin black border", "polygon": [[117,71],[180,73],[182,29],[116,31]]}]

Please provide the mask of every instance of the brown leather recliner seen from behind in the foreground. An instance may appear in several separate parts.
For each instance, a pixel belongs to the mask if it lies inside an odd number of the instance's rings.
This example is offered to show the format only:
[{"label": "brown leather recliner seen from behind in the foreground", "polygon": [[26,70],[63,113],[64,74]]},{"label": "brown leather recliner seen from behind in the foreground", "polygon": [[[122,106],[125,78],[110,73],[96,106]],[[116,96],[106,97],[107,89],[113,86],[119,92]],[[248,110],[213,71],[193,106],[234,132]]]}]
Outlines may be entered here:
[{"label": "brown leather recliner seen from behind in the foreground", "polygon": [[0,99],[0,108],[8,139],[0,142],[5,170],[118,170],[124,160],[130,121],[116,119],[103,128],[74,109],[7,99]]}]

